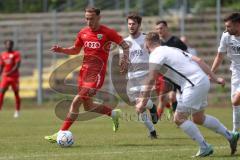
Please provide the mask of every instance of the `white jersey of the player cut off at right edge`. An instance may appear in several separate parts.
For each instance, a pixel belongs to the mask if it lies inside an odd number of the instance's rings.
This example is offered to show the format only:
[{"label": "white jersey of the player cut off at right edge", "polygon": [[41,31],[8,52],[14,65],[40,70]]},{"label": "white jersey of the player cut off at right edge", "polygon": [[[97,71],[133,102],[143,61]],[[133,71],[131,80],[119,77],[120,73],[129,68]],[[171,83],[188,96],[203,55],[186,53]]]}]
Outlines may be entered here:
[{"label": "white jersey of the player cut off at right edge", "polygon": [[240,74],[240,37],[223,32],[218,52],[227,53],[227,56],[231,60],[230,70]]}]

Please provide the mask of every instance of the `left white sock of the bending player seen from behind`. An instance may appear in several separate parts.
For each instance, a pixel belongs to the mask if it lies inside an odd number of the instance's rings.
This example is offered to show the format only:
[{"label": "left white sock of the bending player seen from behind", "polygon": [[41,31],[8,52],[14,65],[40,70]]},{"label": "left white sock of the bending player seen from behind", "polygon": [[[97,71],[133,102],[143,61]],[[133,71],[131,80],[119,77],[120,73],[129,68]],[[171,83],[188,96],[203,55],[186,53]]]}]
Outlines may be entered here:
[{"label": "left white sock of the bending player seen from behind", "polygon": [[186,120],[179,126],[189,137],[193,140],[197,141],[201,148],[208,147],[205,139],[203,138],[202,134],[200,133],[197,126],[190,120]]}]

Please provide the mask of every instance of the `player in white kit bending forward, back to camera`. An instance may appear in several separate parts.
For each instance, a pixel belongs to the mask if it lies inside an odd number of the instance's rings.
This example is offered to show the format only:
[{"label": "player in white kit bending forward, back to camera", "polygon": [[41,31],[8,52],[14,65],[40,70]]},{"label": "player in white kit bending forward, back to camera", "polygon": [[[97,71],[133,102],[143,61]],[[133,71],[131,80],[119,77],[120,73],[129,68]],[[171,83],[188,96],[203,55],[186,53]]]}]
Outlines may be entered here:
[{"label": "player in white kit bending forward, back to camera", "polygon": [[[205,157],[213,153],[212,146],[205,141],[196,124],[223,135],[229,141],[231,155],[233,155],[236,152],[239,133],[228,131],[218,119],[204,114],[210,88],[208,76],[213,82],[221,85],[225,84],[224,79],[217,78],[200,58],[177,48],[160,46],[158,39],[158,34],[154,32],[148,33],[145,38],[145,45],[151,52],[150,71],[144,88],[146,92],[143,92],[143,98],[138,100],[137,111],[141,112],[147,103],[155,76],[159,71],[164,71],[164,76],[181,87],[174,122],[189,137],[198,142],[200,149],[195,156]],[[192,120],[188,119],[190,115]]]}]

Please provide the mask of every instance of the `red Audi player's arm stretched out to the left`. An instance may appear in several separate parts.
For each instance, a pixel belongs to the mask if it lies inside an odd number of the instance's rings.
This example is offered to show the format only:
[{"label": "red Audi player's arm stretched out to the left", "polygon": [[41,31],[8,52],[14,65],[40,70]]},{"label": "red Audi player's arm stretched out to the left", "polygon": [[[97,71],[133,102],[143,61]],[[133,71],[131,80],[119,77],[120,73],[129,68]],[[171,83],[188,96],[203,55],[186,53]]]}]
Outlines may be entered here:
[{"label": "red Audi player's arm stretched out to the left", "polygon": [[63,48],[58,45],[53,45],[52,48],[50,49],[50,51],[53,51],[56,53],[64,53],[64,54],[68,54],[68,55],[78,54],[80,52],[80,50],[81,50],[81,47],[77,47],[77,46]]}]

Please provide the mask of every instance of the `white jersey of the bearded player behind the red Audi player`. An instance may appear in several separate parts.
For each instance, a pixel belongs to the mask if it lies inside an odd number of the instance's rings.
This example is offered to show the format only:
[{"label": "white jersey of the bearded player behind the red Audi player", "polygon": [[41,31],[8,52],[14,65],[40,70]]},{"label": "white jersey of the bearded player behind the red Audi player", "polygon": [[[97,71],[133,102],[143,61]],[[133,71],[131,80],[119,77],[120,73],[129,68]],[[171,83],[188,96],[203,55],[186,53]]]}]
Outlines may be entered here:
[{"label": "white jersey of the bearded player behind the red Audi player", "polygon": [[[144,48],[145,35],[141,33],[136,39],[128,36],[124,40],[129,44],[130,67],[128,70],[128,79],[141,77],[148,73],[147,66],[149,60],[148,51]],[[120,54],[123,51],[120,49]]]}]

